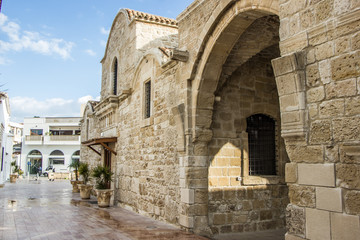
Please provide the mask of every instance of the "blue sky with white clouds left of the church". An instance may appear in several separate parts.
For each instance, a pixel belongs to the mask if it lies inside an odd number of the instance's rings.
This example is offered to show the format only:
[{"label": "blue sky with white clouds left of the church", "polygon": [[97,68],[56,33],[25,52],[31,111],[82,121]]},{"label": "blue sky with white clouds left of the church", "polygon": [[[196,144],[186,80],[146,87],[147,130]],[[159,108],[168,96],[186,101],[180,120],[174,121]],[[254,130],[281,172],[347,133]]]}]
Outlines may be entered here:
[{"label": "blue sky with white clouds left of the church", "polygon": [[109,31],[122,8],[176,18],[193,0],[2,0],[0,91],[12,122],[77,117],[99,100]]}]

